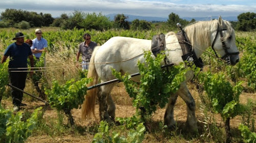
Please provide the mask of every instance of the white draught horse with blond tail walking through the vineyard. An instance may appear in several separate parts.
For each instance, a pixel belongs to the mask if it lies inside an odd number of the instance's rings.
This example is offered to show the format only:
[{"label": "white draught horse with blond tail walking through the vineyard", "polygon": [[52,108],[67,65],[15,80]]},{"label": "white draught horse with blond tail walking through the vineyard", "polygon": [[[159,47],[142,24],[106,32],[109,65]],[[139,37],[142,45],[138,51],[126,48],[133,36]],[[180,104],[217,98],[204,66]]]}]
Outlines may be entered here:
[{"label": "white draught horse with blond tail walking through the vineyard", "polygon": [[[212,46],[219,55],[227,59],[229,64],[235,65],[239,62],[239,52],[235,43],[234,30],[228,21],[218,20],[200,21],[184,28],[193,50],[197,58],[200,58],[203,51]],[[183,55],[178,39],[173,32],[165,35],[166,50],[165,54],[170,63],[179,64],[183,62]],[[170,44],[168,44],[170,43]],[[106,41],[102,46],[96,47],[91,58],[88,77],[93,77],[94,81],[89,85],[115,79],[111,69],[121,73],[134,74],[139,72],[137,62],[145,62],[143,57],[144,50],[151,50],[151,40],[113,37]],[[152,56],[154,56],[152,54]],[[185,101],[187,105],[187,124],[191,131],[197,131],[197,119],[195,115],[195,100],[188,91],[186,82],[193,77],[193,71],[187,72],[186,81],[180,85],[180,89],[174,95],[171,95],[164,115],[164,123],[168,127],[174,126],[174,105],[178,95]],[[140,76],[132,78],[137,82]],[[92,89],[87,92],[86,100],[82,105],[82,118],[87,118],[94,114],[96,95],[99,100],[99,116],[100,120],[113,122],[115,119],[115,104],[111,98],[111,90],[116,83],[103,85],[98,89]],[[97,91],[99,90],[99,91]]]}]

